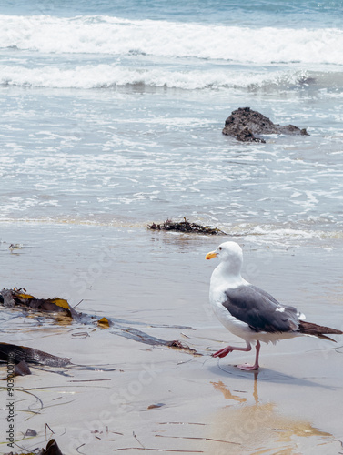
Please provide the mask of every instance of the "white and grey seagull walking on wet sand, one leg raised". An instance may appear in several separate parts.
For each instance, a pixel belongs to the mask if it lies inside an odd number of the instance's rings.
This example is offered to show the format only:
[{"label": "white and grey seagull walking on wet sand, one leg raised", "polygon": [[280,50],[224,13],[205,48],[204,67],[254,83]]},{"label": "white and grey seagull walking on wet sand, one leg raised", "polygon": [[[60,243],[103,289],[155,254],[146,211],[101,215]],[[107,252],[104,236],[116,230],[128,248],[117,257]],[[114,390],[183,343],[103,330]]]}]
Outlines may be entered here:
[{"label": "white and grey seagull walking on wet sand, one leg raised", "polygon": [[261,341],[276,344],[280,339],[306,335],[335,341],[326,334],[343,334],[338,329],[305,322],[305,315],[297,308],[281,305],[265,290],[242,278],[243,252],[236,242],[222,243],[215,251],[207,253],[206,259],[212,258],[218,258],[220,262],[211,276],[210,304],[223,326],[247,344],[245,348],[227,346],[212,354],[213,357],[223,358],[233,350],[249,351],[253,343],[256,345],[254,365],[245,363],[237,367],[256,370]]}]

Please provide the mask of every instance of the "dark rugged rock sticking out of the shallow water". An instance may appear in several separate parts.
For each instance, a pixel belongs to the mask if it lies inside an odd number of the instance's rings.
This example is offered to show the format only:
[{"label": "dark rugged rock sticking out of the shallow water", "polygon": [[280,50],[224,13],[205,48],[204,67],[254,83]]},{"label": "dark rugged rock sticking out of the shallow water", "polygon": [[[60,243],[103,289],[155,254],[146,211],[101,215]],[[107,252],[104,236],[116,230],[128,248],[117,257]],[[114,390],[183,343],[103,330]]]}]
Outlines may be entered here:
[{"label": "dark rugged rock sticking out of the shallow water", "polygon": [[307,130],[299,129],[298,126],[281,126],[273,123],[267,116],[263,116],[250,107],[239,107],[227,117],[223,129],[223,135],[234,136],[243,142],[266,142],[255,135],[302,135],[309,136]]}]

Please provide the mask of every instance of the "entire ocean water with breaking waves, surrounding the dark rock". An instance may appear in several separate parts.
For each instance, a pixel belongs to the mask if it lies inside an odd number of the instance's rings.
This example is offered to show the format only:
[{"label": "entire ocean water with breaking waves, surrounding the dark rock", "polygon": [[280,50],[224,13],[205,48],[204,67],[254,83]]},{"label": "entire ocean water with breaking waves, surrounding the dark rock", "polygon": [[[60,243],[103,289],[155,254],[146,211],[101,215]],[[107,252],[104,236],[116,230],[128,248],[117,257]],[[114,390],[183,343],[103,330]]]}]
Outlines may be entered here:
[{"label": "entire ocean water with breaking waves, surrounding the dark rock", "polygon": [[[340,245],[342,11],[313,0],[2,0],[0,220],[187,217],[258,241]],[[310,136],[223,136],[245,106]]]}]

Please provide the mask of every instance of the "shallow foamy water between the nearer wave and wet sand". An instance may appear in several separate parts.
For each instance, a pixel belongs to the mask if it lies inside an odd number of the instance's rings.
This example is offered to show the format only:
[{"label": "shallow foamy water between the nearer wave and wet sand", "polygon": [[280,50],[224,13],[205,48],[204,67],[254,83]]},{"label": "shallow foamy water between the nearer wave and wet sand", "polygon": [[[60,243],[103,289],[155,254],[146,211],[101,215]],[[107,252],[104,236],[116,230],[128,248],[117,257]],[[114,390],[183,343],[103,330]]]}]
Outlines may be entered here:
[{"label": "shallow foamy water between the nearer wave and wet sand", "polygon": [[[221,100],[207,112],[213,94],[199,103],[179,91],[76,98],[25,90],[18,100],[18,90],[2,126],[5,220],[144,225],[186,216],[238,234],[288,228],[305,238],[340,236],[341,143],[332,125],[319,131],[329,112],[315,119],[311,136],[245,145],[221,135],[228,112]],[[280,116],[288,104],[278,102]],[[313,119],[323,108],[308,100],[305,109]]]}]

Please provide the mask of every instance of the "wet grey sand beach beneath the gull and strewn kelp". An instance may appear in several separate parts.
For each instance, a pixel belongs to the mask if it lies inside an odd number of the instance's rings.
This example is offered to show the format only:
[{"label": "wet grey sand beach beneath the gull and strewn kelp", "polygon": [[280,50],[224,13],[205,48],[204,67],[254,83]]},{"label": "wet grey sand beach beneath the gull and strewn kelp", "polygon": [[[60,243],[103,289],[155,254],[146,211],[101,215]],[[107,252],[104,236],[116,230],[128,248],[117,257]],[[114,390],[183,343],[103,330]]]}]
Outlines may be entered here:
[{"label": "wet grey sand beach beneath the gull and strewn kelp", "polygon": [[[53,437],[65,455],[343,452],[343,339],[263,345],[257,373],[234,366],[252,361],[253,353],[210,357],[225,344],[241,342],[208,308],[208,281],[217,263],[204,258],[223,238],[142,227],[18,224],[4,225],[1,240],[2,288],[67,298],[72,306],[82,300],[77,308],[83,312],[126,319],[135,329],[179,339],[202,354],[2,310],[1,341],[99,369],[32,368],[31,376],[16,378],[20,448],[45,447]],[[8,248],[11,243],[19,248]],[[309,321],[342,329],[338,249],[324,243],[323,248],[239,243],[248,280],[301,308]],[[0,372],[4,378],[5,366]],[[5,421],[5,389],[1,396]],[[27,429],[37,435],[24,437]],[[4,430],[1,453],[11,451]]]}]

